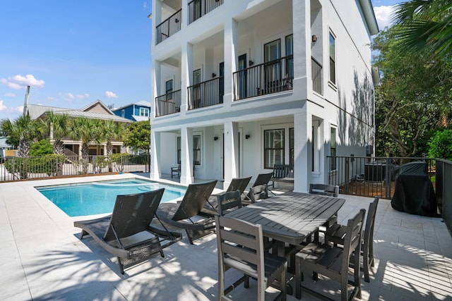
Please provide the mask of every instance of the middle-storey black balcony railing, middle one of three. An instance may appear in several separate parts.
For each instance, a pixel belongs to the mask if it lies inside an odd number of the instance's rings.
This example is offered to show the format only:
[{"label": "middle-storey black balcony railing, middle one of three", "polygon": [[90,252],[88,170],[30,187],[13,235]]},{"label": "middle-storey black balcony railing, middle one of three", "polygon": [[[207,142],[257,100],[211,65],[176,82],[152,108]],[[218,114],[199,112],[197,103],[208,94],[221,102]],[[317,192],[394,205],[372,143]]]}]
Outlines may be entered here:
[{"label": "middle-storey black balcony railing, middle one of three", "polygon": [[222,76],[200,82],[187,88],[189,92],[189,110],[222,104],[224,78]]}]

